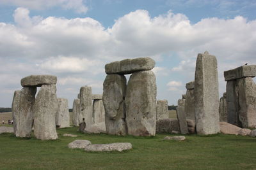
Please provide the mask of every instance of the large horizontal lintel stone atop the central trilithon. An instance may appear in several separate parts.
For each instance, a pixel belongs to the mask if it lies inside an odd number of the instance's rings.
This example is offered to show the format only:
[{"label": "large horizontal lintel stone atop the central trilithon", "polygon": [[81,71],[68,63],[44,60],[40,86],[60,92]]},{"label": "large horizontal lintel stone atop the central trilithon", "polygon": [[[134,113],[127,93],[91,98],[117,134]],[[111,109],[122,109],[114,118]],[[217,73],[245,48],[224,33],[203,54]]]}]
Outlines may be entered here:
[{"label": "large horizontal lintel stone atop the central trilithon", "polygon": [[149,57],[136,59],[125,59],[122,61],[106,64],[105,72],[107,74],[131,74],[136,71],[145,71],[153,69],[156,62]]}]

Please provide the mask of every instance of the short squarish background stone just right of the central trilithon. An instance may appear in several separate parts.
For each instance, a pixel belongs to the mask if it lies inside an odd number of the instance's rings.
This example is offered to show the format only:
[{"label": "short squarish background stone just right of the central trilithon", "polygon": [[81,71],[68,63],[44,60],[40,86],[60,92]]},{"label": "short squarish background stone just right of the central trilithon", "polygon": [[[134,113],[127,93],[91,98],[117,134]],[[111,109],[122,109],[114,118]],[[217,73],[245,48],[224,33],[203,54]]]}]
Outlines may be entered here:
[{"label": "short squarish background stone just right of the central trilithon", "polygon": [[156,120],[169,118],[168,113],[168,101],[167,100],[157,100],[156,104]]}]

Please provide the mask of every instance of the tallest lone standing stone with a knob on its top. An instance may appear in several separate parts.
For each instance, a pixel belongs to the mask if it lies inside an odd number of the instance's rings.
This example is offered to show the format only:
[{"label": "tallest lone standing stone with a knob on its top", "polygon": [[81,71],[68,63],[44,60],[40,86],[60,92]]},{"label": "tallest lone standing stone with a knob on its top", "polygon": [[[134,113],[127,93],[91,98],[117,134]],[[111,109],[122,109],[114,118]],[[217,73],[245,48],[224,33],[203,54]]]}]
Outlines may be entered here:
[{"label": "tallest lone standing stone with a knob on its top", "polygon": [[199,53],[195,71],[195,118],[198,134],[220,132],[218,66],[214,55]]}]

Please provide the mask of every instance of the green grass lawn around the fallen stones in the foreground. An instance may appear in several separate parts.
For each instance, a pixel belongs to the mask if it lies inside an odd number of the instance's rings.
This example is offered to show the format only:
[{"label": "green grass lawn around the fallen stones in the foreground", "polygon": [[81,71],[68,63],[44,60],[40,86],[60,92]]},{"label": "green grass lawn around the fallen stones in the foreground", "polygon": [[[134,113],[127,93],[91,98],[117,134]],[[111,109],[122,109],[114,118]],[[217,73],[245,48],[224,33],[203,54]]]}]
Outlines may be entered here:
[{"label": "green grass lawn around the fallen stones in the foreground", "polygon": [[[63,137],[62,134],[79,137]],[[255,169],[256,138],[218,134],[186,136],[186,141],[163,141],[133,136],[81,134],[76,128],[58,129],[56,141],[0,135],[0,169]],[[67,148],[75,139],[95,143],[130,142],[127,152],[89,153]]]}]

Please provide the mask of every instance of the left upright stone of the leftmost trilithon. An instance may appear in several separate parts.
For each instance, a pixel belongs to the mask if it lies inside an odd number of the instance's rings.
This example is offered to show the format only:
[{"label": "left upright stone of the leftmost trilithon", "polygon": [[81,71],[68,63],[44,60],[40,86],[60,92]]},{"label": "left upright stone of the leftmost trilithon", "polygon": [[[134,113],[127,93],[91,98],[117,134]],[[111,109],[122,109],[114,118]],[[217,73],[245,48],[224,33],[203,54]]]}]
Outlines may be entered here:
[{"label": "left upright stone of the leftmost trilithon", "polygon": [[12,102],[13,129],[16,137],[29,138],[33,125],[36,87],[23,87],[14,92]]}]

